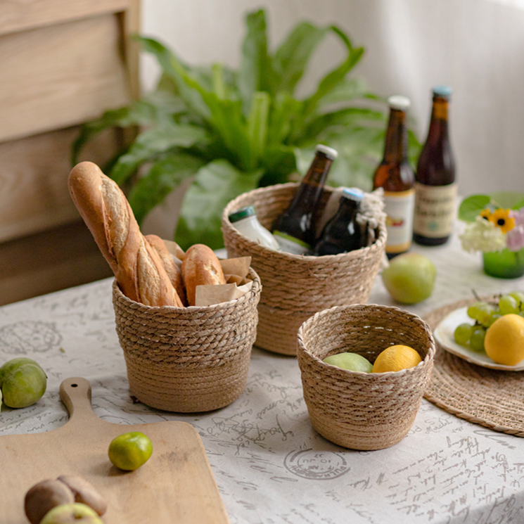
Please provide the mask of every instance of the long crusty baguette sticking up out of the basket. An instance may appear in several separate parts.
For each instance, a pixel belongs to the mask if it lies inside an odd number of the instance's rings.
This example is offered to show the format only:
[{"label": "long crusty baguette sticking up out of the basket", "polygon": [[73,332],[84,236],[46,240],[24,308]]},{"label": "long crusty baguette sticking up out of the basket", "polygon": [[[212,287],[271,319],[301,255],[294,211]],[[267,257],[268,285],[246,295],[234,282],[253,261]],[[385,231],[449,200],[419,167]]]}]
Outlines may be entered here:
[{"label": "long crusty baguette sticking up out of the basket", "polygon": [[158,253],[141,234],[115,181],[93,162],[81,162],[70,172],[68,186],[122,293],[149,306],[183,307]]}]

